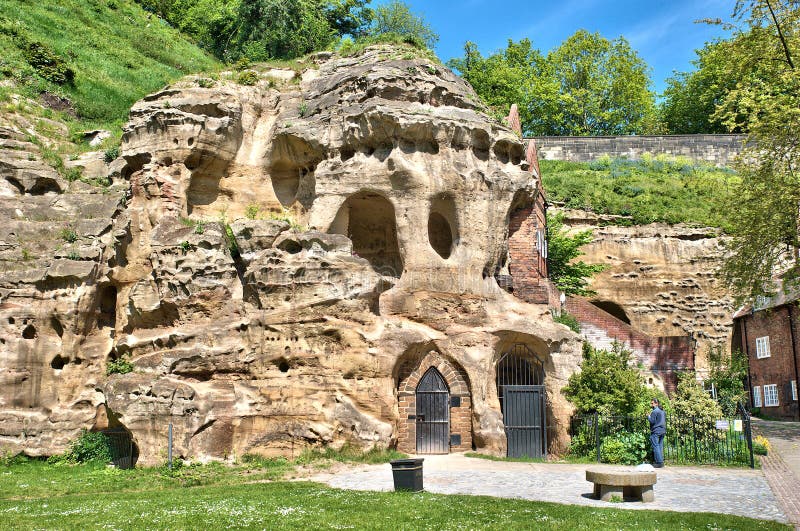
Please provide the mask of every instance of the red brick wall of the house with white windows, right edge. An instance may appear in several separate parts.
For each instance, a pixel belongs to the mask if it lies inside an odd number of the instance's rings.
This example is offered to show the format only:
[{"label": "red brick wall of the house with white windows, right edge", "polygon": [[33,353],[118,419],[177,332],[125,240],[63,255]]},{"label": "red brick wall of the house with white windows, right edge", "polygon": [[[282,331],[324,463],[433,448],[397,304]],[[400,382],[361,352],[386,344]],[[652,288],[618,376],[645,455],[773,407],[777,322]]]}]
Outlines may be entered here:
[{"label": "red brick wall of the house with white windows, right edge", "polygon": [[[795,341],[800,340],[800,309],[793,308]],[[795,363],[800,363],[797,356],[798,345],[792,349],[792,333],[789,328],[789,307],[779,306],[769,310],[761,310],[739,318],[742,343],[750,363],[750,400],[752,404],[754,386],[761,387],[761,411],[764,414],[785,419],[800,420],[798,403],[792,400],[791,382],[795,380]],[[756,357],[756,338],[768,336],[770,357]],[[777,384],[778,406],[764,405],[764,385]]]}]

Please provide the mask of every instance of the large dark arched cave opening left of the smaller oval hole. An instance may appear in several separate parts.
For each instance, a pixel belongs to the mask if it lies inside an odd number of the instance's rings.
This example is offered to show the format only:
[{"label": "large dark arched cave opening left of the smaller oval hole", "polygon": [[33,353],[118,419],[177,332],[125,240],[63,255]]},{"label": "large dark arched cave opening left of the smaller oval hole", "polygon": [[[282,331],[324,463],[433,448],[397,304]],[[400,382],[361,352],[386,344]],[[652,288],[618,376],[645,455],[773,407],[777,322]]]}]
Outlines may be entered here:
[{"label": "large dark arched cave opening left of the smaller oval hole", "polygon": [[394,206],[374,192],[359,192],[344,202],[328,232],[344,234],[353,253],[365,258],[384,276],[400,278],[403,258],[397,241]]}]

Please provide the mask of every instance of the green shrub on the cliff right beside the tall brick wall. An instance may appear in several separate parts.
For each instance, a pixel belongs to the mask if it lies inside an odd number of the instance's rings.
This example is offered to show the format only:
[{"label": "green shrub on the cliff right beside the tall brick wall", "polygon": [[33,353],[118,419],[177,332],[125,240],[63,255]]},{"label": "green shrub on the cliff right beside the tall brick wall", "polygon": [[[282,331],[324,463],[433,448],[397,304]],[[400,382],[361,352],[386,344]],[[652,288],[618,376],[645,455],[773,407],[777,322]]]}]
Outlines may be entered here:
[{"label": "green shrub on the cliff right beside the tall brick wall", "polygon": [[547,270],[558,289],[567,295],[592,295],[589,280],[606,269],[603,264],[587,264],[575,259],[581,247],[592,241],[592,231],[570,235],[564,228],[564,215],[547,216]]}]

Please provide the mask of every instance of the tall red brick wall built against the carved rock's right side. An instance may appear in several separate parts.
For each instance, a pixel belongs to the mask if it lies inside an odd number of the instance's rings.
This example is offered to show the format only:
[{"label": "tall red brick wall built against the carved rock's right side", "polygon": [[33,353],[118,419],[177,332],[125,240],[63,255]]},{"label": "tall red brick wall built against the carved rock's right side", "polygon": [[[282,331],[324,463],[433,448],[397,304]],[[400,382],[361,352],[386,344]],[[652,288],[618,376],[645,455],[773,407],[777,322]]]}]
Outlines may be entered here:
[{"label": "tall red brick wall built against the carved rock's right side", "polygon": [[545,232],[545,204],[542,194],[531,203],[512,210],[508,219],[508,272],[514,295],[534,304],[548,304],[550,283],[547,259],[536,246],[536,232]]}]

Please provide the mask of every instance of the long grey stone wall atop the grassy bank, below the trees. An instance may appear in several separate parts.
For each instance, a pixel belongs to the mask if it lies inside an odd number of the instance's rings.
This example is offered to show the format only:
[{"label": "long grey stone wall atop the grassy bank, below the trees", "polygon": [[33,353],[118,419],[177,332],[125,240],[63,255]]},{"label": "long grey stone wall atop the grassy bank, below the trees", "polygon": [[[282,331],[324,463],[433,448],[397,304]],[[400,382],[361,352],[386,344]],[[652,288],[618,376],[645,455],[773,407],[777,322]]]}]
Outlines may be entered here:
[{"label": "long grey stone wall atop the grassy bank, below the trees", "polygon": [[639,159],[642,154],[666,154],[729,166],[742,148],[743,135],[670,136],[539,136],[534,138],[540,160],[588,162],[603,155]]}]

